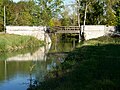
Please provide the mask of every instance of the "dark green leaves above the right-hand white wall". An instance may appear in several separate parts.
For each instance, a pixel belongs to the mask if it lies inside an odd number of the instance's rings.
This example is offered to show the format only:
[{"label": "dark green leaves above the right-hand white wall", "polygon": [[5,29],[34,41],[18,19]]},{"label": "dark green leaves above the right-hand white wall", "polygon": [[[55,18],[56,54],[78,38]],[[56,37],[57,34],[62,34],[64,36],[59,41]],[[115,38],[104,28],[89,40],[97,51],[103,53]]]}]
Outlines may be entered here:
[{"label": "dark green leaves above the right-hand white wall", "polygon": [[[116,14],[117,9],[113,6],[118,6],[119,0],[79,0],[80,14],[83,24],[85,4],[88,6],[86,24],[92,25],[118,25],[119,18]],[[118,5],[117,5],[118,4]],[[117,21],[116,21],[117,19]]]}]

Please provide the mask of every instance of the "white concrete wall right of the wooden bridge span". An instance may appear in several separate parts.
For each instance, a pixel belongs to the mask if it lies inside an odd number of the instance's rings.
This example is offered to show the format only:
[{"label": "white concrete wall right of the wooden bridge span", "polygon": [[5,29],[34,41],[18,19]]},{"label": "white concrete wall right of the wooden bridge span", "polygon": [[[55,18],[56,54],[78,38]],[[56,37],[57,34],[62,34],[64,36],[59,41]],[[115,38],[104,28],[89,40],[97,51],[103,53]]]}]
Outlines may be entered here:
[{"label": "white concrete wall right of the wooden bridge span", "polygon": [[[115,26],[106,26],[106,25],[86,25],[85,26],[85,40],[98,38],[109,33],[112,33],[116,30]],[[83,32],[83,25],[81,26],[81,31]]]}]

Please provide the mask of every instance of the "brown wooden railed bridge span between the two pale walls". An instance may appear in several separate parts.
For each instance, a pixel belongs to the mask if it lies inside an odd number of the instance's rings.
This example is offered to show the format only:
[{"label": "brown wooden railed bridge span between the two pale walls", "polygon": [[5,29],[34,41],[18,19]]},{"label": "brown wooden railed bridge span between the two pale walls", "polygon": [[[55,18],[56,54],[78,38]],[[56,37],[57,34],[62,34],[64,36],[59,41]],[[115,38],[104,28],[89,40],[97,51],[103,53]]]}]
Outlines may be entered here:
[{"label": "brown wooden railed bridge span between the two pale walls", "polygon": [[80,33],[79,26],[55,26],[51,28],[54,33]]}]

